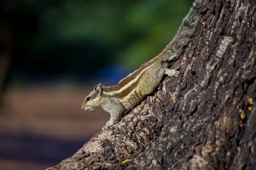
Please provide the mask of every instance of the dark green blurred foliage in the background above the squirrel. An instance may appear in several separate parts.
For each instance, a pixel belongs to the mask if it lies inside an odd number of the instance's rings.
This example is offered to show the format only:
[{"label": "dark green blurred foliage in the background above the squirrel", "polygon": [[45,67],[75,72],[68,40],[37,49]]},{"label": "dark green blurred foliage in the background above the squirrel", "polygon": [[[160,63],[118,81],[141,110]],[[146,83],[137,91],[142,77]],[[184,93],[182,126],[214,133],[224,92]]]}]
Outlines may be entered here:
[{"label": "dark green blurred foliage in the background above the squirrel", "polygon": [[[8,1],[8,0],[7,0]],[[93,76],[107,65],[135,69],[175,35],[192,0],[9,0],[11,75]]]}]

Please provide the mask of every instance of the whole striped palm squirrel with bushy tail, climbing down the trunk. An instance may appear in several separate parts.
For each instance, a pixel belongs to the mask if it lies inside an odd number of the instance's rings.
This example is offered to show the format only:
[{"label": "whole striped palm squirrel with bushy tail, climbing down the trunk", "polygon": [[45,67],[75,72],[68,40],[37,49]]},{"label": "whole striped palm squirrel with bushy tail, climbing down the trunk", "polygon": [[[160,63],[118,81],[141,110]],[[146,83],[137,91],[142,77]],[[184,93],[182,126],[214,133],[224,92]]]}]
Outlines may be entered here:
[{"label": "whole striped palm squirrel with bushy tail, climbing down the trunk", "polygon": [[122,79],[117,85],[96,85],[84,99],[81,109],[92,111],[102,108],[111,114],[111,119],[102,128],[109,129],[124,111],[138,105],[146,96],[153,93],[163,76],[179,77],[179,68],[169,69],[173,61],[189,44],[195,35],[200,17],[207,11],[210,0],[195,0],[189,13],[183,19],[173,40],[154,59],[145,62],[139,69]]}]

